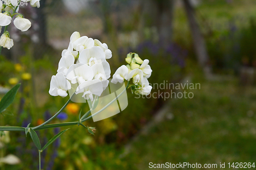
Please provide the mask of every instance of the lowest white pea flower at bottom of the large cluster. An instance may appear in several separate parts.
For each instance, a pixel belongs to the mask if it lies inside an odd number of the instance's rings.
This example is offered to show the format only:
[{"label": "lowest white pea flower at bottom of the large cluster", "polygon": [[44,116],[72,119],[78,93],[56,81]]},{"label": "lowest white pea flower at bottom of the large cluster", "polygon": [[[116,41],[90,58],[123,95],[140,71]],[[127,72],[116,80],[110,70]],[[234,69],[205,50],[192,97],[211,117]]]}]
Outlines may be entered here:
[{"label": "lowest white pea flower at bottom of the large cluster", "polygon": [[76,94],[83,93],[82,97],[86,100],[93,101],[93,94],[100,96],[103,92],[102,83],[100,80],[89,80],[80,84],[76,89]]}]

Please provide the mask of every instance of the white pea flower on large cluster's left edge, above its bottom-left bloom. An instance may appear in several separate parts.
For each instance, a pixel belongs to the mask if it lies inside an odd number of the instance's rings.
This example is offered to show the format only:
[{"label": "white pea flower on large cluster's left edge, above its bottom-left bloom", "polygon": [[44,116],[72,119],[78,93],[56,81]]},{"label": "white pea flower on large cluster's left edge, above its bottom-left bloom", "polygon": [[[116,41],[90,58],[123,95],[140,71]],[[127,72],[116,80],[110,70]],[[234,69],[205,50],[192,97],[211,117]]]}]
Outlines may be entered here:
[{"label": "white pea flower on large cluster's left edge, above its bottom-left bloom", "polygon": [[75,62],[75,58],[73,55],[68,54],[66,56],[62,56],[59,60],[59,67],[57,72],[62,72],[65,76],[67,75],[68,69]]}]

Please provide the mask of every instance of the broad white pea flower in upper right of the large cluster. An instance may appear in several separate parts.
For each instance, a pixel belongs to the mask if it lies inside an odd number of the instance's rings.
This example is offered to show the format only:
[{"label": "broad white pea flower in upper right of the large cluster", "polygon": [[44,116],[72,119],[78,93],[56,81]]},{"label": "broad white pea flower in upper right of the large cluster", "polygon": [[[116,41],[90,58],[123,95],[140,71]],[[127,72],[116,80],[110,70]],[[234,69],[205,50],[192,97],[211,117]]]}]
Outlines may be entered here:
[{"label": "broad white pea flower in upper right of the large cluster", "polygon": [[95,63],[100,63],[105,60],[105,54],[103,50],[98,46],[93,46],[83,50],[79,54],[78,61],[83,64],[89,64],[92,66]]}]

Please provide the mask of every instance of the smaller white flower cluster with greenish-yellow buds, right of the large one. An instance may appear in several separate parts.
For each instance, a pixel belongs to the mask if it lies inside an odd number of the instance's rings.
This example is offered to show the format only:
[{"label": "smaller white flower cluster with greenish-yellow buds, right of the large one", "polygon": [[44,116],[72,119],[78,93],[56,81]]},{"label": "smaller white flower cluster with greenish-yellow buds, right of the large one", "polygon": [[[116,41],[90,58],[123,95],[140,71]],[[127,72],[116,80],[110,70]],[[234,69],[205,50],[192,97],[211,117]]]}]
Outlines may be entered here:
[{"label": "smaller white flower cluster with greenish-yellow buds, right of the large one", "polygon": [[[134,57],[133,57],[134,55]],[[121,83],[124,80],[130,81],[133,79],[133,83],[138,93],[142,95],[148,95],[151,92],[152,86],[148,83],[152,69],[148,63],[149,60],[144,61],[136,53],[129,53],[125,58],[127,65],[119,67],[113,75],[112,83]]]}]

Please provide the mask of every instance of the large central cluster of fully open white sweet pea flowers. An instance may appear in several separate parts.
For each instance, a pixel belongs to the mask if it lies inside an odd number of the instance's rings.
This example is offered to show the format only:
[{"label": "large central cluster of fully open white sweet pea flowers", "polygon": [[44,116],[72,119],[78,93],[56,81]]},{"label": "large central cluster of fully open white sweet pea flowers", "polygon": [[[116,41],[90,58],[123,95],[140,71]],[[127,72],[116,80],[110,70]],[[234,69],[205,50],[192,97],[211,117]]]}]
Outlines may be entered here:
[{"label": "large central cluster of fully open white sweet pea flowers", "polygon": [[51,95],[65,97],[68,90],[76,88],[76,94],[93,101],[93,94],[100,96],[109,85],[111,70],[106,59],[112,57],[112,52],[105,43],[74,32],[61,56],[58,73],[51,79]]}]

